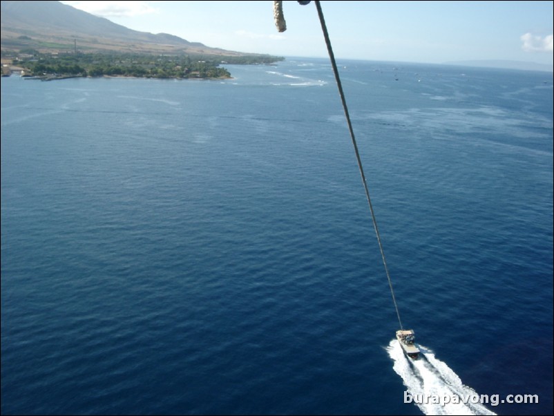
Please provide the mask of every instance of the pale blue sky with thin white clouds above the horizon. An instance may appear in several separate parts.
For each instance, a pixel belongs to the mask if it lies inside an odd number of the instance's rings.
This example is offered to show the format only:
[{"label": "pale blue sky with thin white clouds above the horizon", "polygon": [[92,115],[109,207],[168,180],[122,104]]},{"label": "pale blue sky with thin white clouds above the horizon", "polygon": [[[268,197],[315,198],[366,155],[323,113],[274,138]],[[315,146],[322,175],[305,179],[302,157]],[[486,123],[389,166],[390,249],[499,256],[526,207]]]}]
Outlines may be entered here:
[{"label": "pale blue sky with thin white clouds above the horizon", "polygon": [[[213,48],[327,57],[314,1],[61,1],[141,32]],[[442,64],[510,60],[553,64],[553,1],[321,1],[334,55]]]}]

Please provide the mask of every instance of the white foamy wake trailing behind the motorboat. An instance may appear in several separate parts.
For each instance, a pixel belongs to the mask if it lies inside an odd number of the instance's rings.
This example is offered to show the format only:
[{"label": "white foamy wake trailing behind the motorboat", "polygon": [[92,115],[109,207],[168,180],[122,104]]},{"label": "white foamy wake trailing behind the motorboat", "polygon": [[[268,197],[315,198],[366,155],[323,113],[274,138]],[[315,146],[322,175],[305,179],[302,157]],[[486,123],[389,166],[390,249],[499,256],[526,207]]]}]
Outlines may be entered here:
[{"label": "white foamy wake trailing behind the motorboat", "polygon": [[[399,342],[390,341],[387,351],[394,361],[392,368],[402,377],[404,386],[412,398],[413,403],[426,415],[496,415],[477,401],[479,395],[468,386],[464,386],[461,379],[450,367],[434,357],[434,354],[423,346],[419,346],[421,357],[411,363],[405,357]],[[459,398],[455,403],[453,397]],[[429,400],[423,400],[431,397]],[[433,403],[441,398],[445,403]],[[432,398],[435,398],[433,400]],[[466,403],[464,403],[466,399]],[[446,401],[449,401],[446,403]]]}]

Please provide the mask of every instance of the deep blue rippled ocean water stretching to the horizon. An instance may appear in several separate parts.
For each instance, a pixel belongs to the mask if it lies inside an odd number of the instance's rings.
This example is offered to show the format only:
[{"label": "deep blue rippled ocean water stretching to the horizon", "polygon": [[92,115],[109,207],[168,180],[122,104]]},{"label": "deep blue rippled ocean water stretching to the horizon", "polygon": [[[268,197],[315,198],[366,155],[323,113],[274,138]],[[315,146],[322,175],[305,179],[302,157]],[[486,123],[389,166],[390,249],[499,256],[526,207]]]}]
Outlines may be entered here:
[{"label": "deep blue rippled ocean water stretching to the horizon", "polygon": [[222,81],[10,77],[3,415],[448,414],[403,402],[426,377],[539,397],[494,413],[553,413],[552,74],[339,64],[428,375],[391,343],[327,60]]}]

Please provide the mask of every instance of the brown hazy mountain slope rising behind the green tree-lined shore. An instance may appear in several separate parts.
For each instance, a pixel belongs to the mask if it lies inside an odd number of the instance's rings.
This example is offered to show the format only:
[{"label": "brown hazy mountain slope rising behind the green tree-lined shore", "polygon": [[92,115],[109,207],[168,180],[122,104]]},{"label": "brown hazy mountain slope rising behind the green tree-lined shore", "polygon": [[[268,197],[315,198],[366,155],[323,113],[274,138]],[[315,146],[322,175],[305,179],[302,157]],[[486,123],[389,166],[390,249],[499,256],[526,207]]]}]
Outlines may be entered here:
[{"label": "brown hazy mountain slope rising behind the green tree-lined shore", "polygon": [[32,48],[41,52],[120,51],[247,56],[160,33],[139,32],[59,1],[2,1],[1,50]]}]

